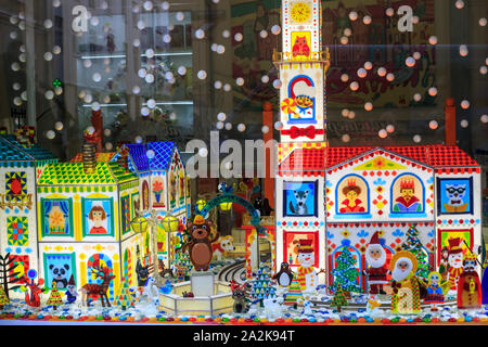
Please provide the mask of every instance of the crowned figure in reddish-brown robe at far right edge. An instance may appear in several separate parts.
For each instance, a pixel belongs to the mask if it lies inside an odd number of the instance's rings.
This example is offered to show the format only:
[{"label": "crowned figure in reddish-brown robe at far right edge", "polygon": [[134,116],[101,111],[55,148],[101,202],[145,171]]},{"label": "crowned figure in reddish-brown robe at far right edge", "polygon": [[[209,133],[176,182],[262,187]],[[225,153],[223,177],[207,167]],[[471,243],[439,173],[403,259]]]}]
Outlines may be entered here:
[{"label": "crowned figure in reddish-brown robe at far right edge", "polygon": [[466,254],[463,272],[458,282],[458,308],[476,309],[481,307],[481,284],[476,272],[476,254]]}]

